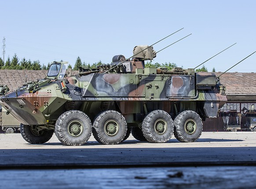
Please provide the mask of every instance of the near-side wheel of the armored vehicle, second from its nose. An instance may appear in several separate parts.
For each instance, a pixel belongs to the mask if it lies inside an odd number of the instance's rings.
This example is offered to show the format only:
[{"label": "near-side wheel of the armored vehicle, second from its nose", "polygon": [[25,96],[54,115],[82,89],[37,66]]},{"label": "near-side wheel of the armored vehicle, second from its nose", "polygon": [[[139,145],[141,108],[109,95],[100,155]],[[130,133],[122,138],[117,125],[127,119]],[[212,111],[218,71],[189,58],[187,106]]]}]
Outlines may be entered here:
[{"label": "near-side wheel of the armored vehicle, second from its nose", "polygon": [[103,111],[93,123],[93,136],[102,144],[121,143],[127,133],[124,116],[117,111]]}]

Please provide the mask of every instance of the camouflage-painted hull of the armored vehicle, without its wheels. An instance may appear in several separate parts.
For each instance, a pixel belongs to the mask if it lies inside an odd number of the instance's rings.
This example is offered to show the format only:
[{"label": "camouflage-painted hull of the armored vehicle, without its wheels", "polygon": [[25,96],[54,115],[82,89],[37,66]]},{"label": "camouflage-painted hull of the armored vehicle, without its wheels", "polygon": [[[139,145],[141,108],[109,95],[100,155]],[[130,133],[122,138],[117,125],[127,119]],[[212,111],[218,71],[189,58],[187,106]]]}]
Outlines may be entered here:
[{"label": "camouflage-painted hull of the armored vehicle, without its wheels", "polygon": [[[65,67],[63,62],[54,64]],[[197,112],[202,119],[216,117],[227,101],[225,88],[212,73],[157,74],[156,68],[143,69],[143,61],[134,60],[123,65],[131,65],[126,67],[129,71],[84,71],[68,77],[63,71],[57,77],[48,74],[2,96],[0,104],[24,125],[54,127],[68,110],[83,111],[92,121],[103,110],[116,110],[134,123],[156,109],[172,118],[185,110]]]}]

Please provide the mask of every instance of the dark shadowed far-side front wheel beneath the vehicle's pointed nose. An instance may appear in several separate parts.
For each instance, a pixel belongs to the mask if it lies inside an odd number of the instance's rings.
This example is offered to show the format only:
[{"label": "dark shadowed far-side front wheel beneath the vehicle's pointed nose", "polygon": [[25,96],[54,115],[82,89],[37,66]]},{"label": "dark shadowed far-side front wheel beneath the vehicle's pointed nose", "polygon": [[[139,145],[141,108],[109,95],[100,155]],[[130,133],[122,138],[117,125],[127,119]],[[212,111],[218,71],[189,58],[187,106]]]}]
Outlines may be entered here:
[{"label": "dark shadowed far-side front wheel beneath the vehicle's pointed nose", "polygon": [[39,134],[35,133],[32,131],[32,126],[30,125],[23,125],[21,123],[20,125],[20,133],[23,137],[23,139],[25,139],[28,143],[31,144],[43,144],[48,142],[52,135],[54,130],[42,130],[39,132]]}]

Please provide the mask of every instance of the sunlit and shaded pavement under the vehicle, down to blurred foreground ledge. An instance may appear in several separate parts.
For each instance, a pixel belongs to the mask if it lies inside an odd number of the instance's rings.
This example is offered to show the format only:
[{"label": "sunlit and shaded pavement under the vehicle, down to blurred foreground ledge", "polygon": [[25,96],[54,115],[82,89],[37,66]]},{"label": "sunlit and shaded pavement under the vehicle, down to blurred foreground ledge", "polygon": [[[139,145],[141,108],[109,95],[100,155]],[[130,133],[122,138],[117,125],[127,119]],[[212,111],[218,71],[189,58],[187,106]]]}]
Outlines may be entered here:
[{"label": "sunlit and shaded pavement under the vehicle, down to blurred foreground ledge", "polygon": [[91,168],[120,166],[256,165],[255,132],[203,132],[194,143],[146,143],[130,136],[118,145],[91,137],[83,146],[64,146],[54,135],[48,143],[27,143],[20,134],[0,134],[0,168]]}]

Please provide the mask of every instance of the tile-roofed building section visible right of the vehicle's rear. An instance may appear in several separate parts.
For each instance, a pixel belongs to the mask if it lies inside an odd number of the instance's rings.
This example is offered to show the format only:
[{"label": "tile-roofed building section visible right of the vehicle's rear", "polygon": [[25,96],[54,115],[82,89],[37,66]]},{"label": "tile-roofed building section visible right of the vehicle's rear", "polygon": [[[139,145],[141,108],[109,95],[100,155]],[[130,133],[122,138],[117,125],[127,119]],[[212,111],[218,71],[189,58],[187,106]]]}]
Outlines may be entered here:
[{"label": "tile-roofed building section visible right of the vehicle's rear", "polygon": [[218,118],[204,121],[204,131],[256,131],[256,73],[229,72],[220,82],[226,86],[228,101],[219,109]]}]

